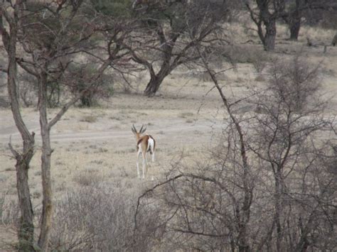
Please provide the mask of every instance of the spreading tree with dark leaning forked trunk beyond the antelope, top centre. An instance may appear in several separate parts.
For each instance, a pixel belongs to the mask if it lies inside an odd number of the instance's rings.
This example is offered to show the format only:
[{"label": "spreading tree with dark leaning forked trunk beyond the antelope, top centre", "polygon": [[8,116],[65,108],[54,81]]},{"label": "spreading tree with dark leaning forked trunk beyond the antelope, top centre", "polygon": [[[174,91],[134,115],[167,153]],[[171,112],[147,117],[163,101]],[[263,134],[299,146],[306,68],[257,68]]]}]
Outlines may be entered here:
[{"label": "spreading tree with dark leaning forked trunk beyond the antelope, top centre", "polygon": [[[144,94],[153,96],[176,67],[199,57],[196,45],[216,38],[228,5],[226,1],[204,0],[146,1],[144,5],[145,9],[135,9],[144,27],[140,31],[140,45],[132,48],[132,59],[149,70],[150,81]],[[192,37],[187,35],[189,29],[193,29]]]}]

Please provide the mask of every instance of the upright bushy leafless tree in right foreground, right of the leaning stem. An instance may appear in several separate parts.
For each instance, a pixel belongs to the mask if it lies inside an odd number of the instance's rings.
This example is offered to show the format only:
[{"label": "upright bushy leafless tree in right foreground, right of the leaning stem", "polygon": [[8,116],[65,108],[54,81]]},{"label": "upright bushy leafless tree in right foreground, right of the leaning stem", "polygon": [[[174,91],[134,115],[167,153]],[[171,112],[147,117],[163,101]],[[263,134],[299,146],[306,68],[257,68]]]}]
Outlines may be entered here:
[{"label": "upright bushy leafless tree in right foreground, right of the leaning stem", "polygon": [[[270,216],[270,226],[267,228],[269,237],[265,240],[275,237],[272,250],[276,251],[294,250],[295,247],[304,249],[309,246],[306,240],[310,231],[308,234],[296,234],[293,226],[299,214],[296,204],[302,207],[301,204],[306,204],[307,200],[304,195],[308,191],[301,192],[299,188],[308,190],[308,184],[316,179],[306,173],[316,169],[319,159],[315,133],[324,130],[330,122],[323,116],[326,104],[316,94],[319,89],[317,68],[310,69],[296,57],[292,63],[273,65],[270,75],[269,87],[257,95],[257,106],[262,114],[250,121],[253,136],[250,148],[260,160],[262,169],[273,177],[273,180],[269,180],[269,187],[274,187],[271,195],[274,213]],[[319,193],[312,187],[310,189],[312,195]],[[293,200],[296,204],[291,202]],[[302,209],[302,213],[306,211]],[[298,218],[304,221],[303,217]],[[306,216],[306,221],[312,220]],[[309,226],[306,228],[309,229]],[[291,236],[289,240],[289,232],[294,232],[297,237]]]}]

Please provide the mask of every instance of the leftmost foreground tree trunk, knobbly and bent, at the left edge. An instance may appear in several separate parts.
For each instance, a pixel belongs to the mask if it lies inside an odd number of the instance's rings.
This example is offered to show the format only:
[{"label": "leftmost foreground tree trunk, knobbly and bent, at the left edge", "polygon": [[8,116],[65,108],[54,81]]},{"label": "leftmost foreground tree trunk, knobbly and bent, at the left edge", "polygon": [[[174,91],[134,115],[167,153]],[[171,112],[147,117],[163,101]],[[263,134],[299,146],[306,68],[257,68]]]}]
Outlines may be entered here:
[{"label": "leftmost foreground tree trunk, knobbly and bent, at the left edge", "polygon": [[11,103],[11,112],[14,117],[16,128],[18,128],[23,140],[22,153],[18,153],[14,150],[11,143],[9,143],[9,148],[16,158],[16,189],[18,192],[18,205],[21,212],[20,225],[18,227],[18,250],[34,251],[33,208],[28,186],[29,164],[31,163],[31,158],[33,158],[34,154],[34,133],[29,133],[28,128],[23,122],[18,102],[18,87],[16,85],[16,38],[18,32],[17,16],[19,4],[21,4],[21,1],[16,2],[16,5],[14,6],[14,18],[9,22],[10,34],[4,30],[2,23],[2,9],[0,9],[0,32],[9,58],[7,87]]}]

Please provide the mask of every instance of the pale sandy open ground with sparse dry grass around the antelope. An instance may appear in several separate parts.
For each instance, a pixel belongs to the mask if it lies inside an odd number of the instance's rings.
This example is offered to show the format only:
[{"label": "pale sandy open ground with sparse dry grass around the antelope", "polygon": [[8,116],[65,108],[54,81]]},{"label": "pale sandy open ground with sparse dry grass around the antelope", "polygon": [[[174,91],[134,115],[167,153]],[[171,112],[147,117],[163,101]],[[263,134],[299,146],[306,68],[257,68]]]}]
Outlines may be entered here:
[{"label": "pale sandy open ground with sparse dry grass around the antelope", "polygon": [[[311,31],[311,34],[315,33]],[[337,109],[337,98],[334,96],[337,94],[337,48],[329,47],[328,52],[323,54],[323,46],[303,47],[303,37],[299,43],[280,40],[272,57],[289,57],[302,50],[309,62],[321,62],[324,95],[331,98],[328,114],[333,115]],[[242,50],[251,46],[242,45]],[[261,45],[257,48],[262,51]],[[251,87],[265,84],[265,80],[258,82],[256,77],[252,65],[238,64],[237,70],[225,73],[222,83],[226,84],[226,94],[242,97]],[[76,187],[77,178],[83,174],[97,176],[112,185],[122,185],[127,190],[141,190],[143,184],[149,183],[137,178],[132,124],[137,127],[146,124],[147,133],[156,138],[156,162],[150,163],[149,171],[150,177],[154,176],[155,180],[164,176],[181,153],[190,165],[206,160],[207,150],[218,143],[218,136],[225,126],[222,103],[215,89],[210,91],[212,87],[213,84],[201,80],[200,75],[181,69],[164,81],[154,98],[137,93],[117,93],[109,101],[102,102],[100,107],[70,109],[51,133],[54,149],[51,175],[55,199],[69,188]],[[144,83],[138,88],[142,90]],[[253,109],[243,104],[237,113],[245,116]],[[57,109],[49,112],[51,117]],[[22,109],[22,113],[28,128],[36,132],[36,154],[29,176],[34,208],[38,209],[41,207],[38,112],[29,108]],[[14,146],[19,147],[20,137],[9,109],[0,110],[0,121],[0,195],[6,194],[8,203],[16,199],[16,176],[15,163],[7,145],[11,136]],[[1,243],[10,243],[15,239],[14,232],[8,231],[10,228],[0,220],[0,251]]]}]

